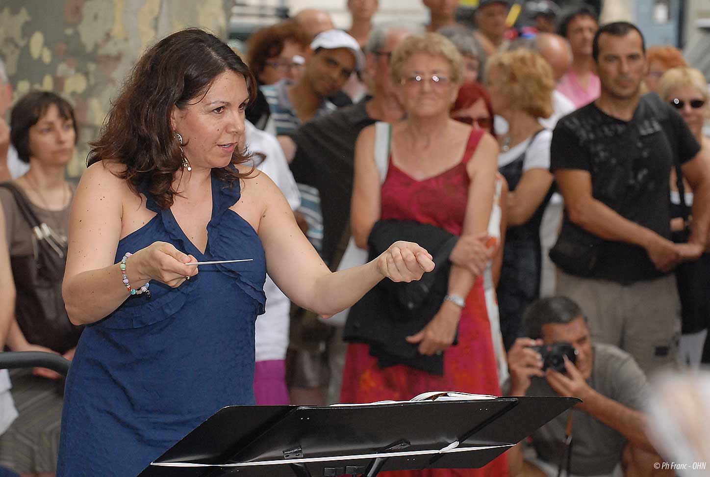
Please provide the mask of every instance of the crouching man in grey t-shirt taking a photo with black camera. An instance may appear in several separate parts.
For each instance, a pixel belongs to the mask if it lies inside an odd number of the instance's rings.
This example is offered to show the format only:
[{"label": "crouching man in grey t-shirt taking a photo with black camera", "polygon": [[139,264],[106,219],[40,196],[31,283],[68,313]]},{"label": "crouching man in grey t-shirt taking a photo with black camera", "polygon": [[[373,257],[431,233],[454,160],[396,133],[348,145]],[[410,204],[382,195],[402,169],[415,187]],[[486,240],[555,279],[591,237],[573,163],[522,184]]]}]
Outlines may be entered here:
[{"label": "crouching man in grey t-shirt taking a photo with black camera", "polygon": [[[525,338],[508,353],[510,396],[582,400],[532,434],[537,457],[511,451],[513,477],[652,476],[662,462],[645,433],[649,388],[635,360],[613,345],[592,343],[586,318],[565,296],[535,301],[523,316]],[[672,475],[668,474],[668,475]]]}]

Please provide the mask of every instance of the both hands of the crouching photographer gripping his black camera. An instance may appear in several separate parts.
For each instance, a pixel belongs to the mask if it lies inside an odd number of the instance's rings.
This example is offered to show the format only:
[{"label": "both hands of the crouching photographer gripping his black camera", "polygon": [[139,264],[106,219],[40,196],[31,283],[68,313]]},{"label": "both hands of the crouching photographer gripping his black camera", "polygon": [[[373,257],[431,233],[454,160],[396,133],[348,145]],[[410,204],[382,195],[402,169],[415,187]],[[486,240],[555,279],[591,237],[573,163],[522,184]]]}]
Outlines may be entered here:
[{"label": "both hands of the crouching photographer gripping his black camera", "polygon": [[[510,395],[524,396],[530,387],[530,378],[532,376],[545,377],[547,383],[550,384],[559,396],[563,397],[579,397],[585,400],[591,392],[591,387],[586,383],[584,376],[579,372],[577,366],[572,363],[565,353],[547,353],[547,359],[538,352],[537,347],[542,347],[542,340],[533,340],[530,338],[518,338],[508,351],[508,371],[510,373]],[[564,351],[559,343],[555,343],[558,350]],[[537,349],[535,349],[537,348]],[[560,357],[562,361],[560,362]],[[551,359],[552,358],[552,359]],[[547,369],[545,364],[547,363]],[[564,374],[553,369],[552,366],[559,364],[562,368],[564,365]]]}]

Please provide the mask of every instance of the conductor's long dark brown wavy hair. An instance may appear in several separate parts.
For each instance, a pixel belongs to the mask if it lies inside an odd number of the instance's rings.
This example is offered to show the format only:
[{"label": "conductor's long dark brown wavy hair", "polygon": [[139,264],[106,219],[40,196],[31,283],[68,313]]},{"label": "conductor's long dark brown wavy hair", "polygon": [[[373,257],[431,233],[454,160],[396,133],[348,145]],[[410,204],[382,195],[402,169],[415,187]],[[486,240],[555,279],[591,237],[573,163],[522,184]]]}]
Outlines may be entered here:
[{"label": "conductor's long dark brown wavy hair", "polygon": [[[217,36],[187,28],[163,38],[133,67],[99,139],[89,143],[87,166],[98,161],[124,164],[125,170],[116,175],[129,183],[131,191],[137,193],[138,185],[146,181],[158,206],[170,208],[176,194],[173,178],[182,167],[170,112],[200,102],[214,79],[228,70],[244,77],[251,102],[256,95],[251,70]],[[246,150],[236,148],[231,164],[215,172],[220,180],[234,183],[251,173],[239,173],[234,165],[250,159]]]}]

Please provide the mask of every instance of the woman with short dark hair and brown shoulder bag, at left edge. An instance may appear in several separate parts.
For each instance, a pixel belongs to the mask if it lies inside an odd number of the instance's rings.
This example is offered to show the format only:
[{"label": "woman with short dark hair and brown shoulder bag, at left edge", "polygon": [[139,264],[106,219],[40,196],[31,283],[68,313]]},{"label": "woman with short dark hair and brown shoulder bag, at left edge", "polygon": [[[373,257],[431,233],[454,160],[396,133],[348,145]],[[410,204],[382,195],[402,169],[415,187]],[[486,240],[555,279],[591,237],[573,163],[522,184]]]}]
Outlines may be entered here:
[{"label": "woman with short dark hair and brown shoulder bag, at left edge", "polygon": [[[12,144],[29,169],[9,183],[18,195],[0,188],[0,233],[10,258],[0,261],[0,274],[13,278],[0,301],[0,313],[13,316],[6,345],[11,351],[61,353],[71,360],[81,328],[67,317],[62,276],[74,195],[65,180],[78,139],[74,109],[53,92],[30,92],[13,107],[10,126]],[[23,213],[26,208],[30,214]],[[43,240],[33,234],[39,223],[50,230]],[[0,465],[22,474],[53,476],[64,380],[51,370],[18,369],[11,372],[11,382],[19,416],[0,437]]]}]

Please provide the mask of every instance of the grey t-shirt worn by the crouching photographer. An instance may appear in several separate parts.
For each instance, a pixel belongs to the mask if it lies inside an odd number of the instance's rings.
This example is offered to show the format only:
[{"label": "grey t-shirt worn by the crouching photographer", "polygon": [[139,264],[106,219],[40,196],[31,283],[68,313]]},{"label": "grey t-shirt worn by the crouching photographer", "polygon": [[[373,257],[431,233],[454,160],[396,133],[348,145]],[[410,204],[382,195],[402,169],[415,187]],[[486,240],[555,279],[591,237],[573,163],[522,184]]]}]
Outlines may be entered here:
[{"label": "grey t-shirt worn by the crouching photographer", "polygon": [[[589,386],[630,409],[637,411],[645,407],[649,387],[643,371],[631,355],[616,346],[596,343],[594,365]],[[509,386],[508,386],[509,387]],[[528,396],[556,396],[555,390],[541,377],[533,377]],[[532,434],[532,444],[543,461],[557,466],[564,449],[564,429],[567,414],[572,417],[572,468],[579,476],[609,474],[621,461],[621,452],[626,437],[603,424],[590,414],[579,409],[560,414]]]}]

